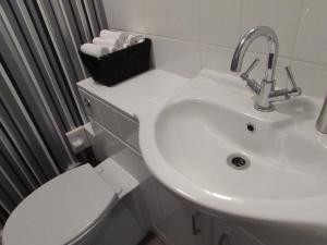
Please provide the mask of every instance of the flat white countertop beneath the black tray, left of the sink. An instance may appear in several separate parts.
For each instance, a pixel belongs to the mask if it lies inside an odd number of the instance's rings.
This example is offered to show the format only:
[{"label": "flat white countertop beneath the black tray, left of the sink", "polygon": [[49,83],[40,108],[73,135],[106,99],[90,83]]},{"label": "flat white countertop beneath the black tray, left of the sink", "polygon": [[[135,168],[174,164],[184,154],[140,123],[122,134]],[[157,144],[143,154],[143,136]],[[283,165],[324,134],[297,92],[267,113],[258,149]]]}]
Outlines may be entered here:
[{"label": "flat white countertop beneath the black tray, left of the sink", "polygon": [[134,117],[137,108],[187,82],[190,79],[182,76],[161,70],[152,70],[113,87],[96,83],[92,77],[78,82],[77,86]]}]

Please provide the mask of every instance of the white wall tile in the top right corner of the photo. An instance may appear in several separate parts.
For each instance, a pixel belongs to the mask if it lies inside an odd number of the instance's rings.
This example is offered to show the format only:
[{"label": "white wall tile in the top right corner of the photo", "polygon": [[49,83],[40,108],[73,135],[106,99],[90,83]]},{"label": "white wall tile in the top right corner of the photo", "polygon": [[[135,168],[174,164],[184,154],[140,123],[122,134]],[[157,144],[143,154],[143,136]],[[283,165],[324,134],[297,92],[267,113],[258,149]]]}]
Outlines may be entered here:
[{"label": "white wall tile in the top right corner of the photo", "polygon": [[295,59],[327,64],[327,1],[305,0]]}]

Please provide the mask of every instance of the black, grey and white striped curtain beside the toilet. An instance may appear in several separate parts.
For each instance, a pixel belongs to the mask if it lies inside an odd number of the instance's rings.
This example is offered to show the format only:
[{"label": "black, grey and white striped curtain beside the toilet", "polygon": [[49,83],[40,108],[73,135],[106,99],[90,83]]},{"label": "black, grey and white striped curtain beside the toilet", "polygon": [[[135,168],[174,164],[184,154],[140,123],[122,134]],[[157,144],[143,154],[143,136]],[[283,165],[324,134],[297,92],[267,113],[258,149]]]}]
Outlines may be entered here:
[{"label": "black, grey and white striped curtain beside the toilet", "polygon": [[65,133],[86,122],[77,50],[102,28],[101,0],[0,2],[0,225],[35,188],[92,161]]}]

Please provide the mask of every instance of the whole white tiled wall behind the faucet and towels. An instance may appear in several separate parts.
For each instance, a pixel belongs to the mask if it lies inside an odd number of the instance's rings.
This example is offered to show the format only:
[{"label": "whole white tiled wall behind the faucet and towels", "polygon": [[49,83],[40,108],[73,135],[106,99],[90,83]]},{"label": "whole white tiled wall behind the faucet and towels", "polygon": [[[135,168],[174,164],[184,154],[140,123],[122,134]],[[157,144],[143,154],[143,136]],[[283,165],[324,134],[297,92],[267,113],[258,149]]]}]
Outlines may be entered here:
[{"label": "whole white tiled wall behind the faucet and towels", "polygon": [[[111,28],[149,35],[156,65],[193,77],[201,69],[229,71],[233,49],[256,25],[276,29],[280,40],[277,71],[291,64],[298,83],[319,98],[327,88],[326,0],[104,0]],[[256,41],[246,63],[265,51]],[[246,64],[245,64],[246,65]],[[264,71],[265,60],[255,76]],[[244,68],[245,69],[245,68]]]}]

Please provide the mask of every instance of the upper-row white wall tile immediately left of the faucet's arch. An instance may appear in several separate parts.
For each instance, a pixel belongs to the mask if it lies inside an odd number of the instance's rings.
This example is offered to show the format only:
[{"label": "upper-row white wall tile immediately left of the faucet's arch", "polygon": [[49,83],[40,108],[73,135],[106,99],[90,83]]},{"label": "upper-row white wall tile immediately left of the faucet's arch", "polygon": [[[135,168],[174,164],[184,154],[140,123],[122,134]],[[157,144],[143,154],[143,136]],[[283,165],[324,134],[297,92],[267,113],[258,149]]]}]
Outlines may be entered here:
[{"label": "upper-row white wall tile immediately left of the faucet's arch", "polygon": [[237,47],[241,30],[242,0],[201,0],[201,41]]}]

